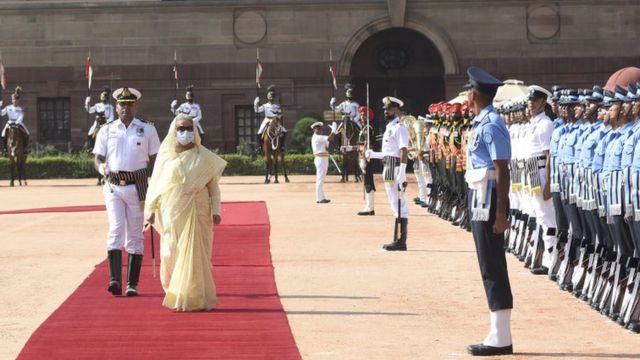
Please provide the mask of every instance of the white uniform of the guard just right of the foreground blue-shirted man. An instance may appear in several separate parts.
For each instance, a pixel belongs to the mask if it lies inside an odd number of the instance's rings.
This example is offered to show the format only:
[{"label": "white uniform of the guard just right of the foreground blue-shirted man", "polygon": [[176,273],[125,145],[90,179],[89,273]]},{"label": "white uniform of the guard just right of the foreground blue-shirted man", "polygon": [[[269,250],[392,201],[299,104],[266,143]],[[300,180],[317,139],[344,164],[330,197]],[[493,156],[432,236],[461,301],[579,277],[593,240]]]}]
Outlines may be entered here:
[{"label": "white uniform of the guard just right of the foreground blue-shirted man", "polygon": [[[553,122],[544,113],[538,114],[529,122],[526,133],[524,134],[525,144],[523,146],[523,156],[526,158],[540,157],[545,151],[549,151],[551,145],[551,134],[553,133]],[[535,216],[536,224],[542,227],[545,249],[551,249],[556,245],[557,238],[555,235],[549,235],[548,229],[556,228],[555,209],[551,199],[544,200],[542,190],[544,189],[546,179],[546,169],[542,168],[538,171],[540,176],[541,191],[539,193],[528,193],[528,203],[531,207],[532,214]],[[551,268],[551,253],[545,251],[542,257],[542,265]]]}]

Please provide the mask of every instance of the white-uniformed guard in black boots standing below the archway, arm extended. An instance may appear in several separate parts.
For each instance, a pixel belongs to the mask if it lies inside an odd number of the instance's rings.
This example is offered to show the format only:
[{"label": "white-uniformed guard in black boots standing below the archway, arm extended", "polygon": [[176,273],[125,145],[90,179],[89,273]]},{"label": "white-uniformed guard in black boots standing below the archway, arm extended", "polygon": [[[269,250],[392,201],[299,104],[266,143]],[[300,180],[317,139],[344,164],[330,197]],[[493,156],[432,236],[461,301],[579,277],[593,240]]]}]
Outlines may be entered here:
[{"label": "white-uniformed guard in black boots standing below the archway, arm extended", "polygon": [[[407,250],[407,227],[409,207],[404,199],[404,189],[407,181],[407,149],[409,148],[409,131],[400,122],[400,108],[404,103],[397,98],[387,96],[382,99],[384,115],[390,122],[382,137],[382,152],[368,150],[368,158],[382,159],[384,162],[384,188],[387,190],[389,205],[400,220],[400,237],[385,244],[382,248],[387,251]],[[398,201],[400,202],[400,216],[398,216]]]}]

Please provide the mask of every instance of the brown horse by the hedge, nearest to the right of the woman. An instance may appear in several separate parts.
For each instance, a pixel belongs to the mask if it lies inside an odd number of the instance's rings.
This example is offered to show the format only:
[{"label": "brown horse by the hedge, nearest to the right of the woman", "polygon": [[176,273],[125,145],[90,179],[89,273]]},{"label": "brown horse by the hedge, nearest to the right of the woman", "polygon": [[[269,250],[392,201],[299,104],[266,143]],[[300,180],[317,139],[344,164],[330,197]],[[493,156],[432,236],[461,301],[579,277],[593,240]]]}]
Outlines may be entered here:
[{"label": "brown horse by the hedge, nearest to the right of the woman", "polygon": [[280,117],[275,116],[270,119],[269,125],[262,133],[262,153],[264,154],[265,177],[264,183],[271,182],[271,176],[275,175],[274,183],[278,181],[278,159],[282,165],[285,182],[289,182],[287,176],[287,164],[284,160],[284,136],[285,133],[280,126]]}]

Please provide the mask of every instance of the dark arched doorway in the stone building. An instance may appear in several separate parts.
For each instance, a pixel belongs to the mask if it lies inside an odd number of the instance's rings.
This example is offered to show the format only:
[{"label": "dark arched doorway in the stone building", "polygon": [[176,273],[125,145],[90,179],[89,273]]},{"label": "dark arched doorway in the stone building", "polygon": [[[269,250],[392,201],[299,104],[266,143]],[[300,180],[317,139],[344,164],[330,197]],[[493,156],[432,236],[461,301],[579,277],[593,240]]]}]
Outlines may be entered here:
[{"label": "dark arched doorway in the stone building", "polygon": [[403,110],[424,115],[427,106],[445,96],[444,65],[436,46],[419,32],[405,28],[381,30],[356,51],[349,75],[356,100],[369,101],[378,126],[383,125],[382,98],[396,96],[404,101]]}]

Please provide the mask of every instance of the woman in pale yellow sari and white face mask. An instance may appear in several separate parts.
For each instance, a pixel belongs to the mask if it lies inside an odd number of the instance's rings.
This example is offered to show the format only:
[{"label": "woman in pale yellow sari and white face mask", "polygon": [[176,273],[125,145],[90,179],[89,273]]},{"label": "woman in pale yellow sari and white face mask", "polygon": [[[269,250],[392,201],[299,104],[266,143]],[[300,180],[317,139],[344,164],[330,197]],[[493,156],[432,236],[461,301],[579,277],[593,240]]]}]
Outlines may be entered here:
[{"label": "woman in pale yellow sari and white face mask", "polygon": [[226,164],[200,144],[189,116],[173,119],[156,158],[144,211],[161,235],[165,307],[208,311],[218,303],[211,250],[213,225],[221,221],[218,182]]}]

